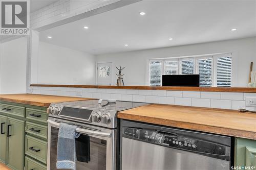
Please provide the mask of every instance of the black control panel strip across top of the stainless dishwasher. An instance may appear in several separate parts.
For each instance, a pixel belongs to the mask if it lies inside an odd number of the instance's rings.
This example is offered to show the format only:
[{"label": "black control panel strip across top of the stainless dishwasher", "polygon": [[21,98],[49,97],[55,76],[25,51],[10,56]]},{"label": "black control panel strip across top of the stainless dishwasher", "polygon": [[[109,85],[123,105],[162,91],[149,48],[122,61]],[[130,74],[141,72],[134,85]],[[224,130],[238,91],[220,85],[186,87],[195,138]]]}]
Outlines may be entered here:
[{"label": "black control panel strip across top of the stainless dishwasher", "polygon": [[122,133],[123,137],[133,138],[153,144],[159,144],[165,147],[214,155],[226,154],[226,147],[224,145],[196,138],[186,137],[177,133],[163,132],[157,130],[145,130],[130,127],[124,127]]}]

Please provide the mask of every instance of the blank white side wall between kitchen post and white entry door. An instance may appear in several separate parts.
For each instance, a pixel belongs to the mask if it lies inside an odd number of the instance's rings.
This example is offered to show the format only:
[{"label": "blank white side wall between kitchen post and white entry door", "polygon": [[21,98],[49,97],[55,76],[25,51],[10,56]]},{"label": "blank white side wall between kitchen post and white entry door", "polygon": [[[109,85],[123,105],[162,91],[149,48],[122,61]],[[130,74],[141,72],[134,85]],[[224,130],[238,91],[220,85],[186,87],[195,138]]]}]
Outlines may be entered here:
[{"label": "blank white side wall between kitchen post and white entry door", "polygon": [[95,56],[39,42],[38,84],[95,84]]}]

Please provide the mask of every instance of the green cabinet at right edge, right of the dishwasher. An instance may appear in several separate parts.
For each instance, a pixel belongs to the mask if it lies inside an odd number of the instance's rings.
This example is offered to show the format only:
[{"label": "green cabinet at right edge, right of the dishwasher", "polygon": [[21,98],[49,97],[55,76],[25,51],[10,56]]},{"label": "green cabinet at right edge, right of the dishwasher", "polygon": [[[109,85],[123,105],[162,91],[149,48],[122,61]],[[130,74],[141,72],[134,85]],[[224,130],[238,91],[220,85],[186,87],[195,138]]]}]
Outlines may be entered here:
[{"label": "green cabinet at right edge, right of the dishwasher", "polygon": [[235,166],[256,167],[256,140],[236,138],[234,152]]}]

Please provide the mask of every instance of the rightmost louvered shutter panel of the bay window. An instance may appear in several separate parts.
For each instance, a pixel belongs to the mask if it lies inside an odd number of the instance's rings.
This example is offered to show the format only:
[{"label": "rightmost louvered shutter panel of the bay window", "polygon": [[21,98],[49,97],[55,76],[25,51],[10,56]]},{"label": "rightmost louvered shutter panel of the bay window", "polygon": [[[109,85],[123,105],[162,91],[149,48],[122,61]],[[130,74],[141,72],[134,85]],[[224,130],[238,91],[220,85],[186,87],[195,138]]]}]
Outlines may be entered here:
[{"label": "rightmost louvered shutter panel of the bay window", "polygon": [[217,58],[217,87],[231,87],[232,57]]}]

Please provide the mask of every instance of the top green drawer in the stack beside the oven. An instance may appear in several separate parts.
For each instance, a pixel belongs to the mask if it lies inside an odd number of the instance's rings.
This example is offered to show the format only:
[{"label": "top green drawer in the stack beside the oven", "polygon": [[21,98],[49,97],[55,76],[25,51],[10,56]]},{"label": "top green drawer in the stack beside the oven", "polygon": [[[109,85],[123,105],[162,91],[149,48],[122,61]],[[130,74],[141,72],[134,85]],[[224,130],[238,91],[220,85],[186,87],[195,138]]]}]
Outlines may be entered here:
[{"label": "top green drawer in the stack beside the oven", "polygon": [[26,108],[26,118],[40,123],[47,123],[48,114],[46,110]]}]

